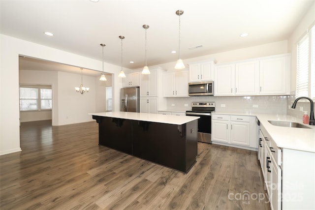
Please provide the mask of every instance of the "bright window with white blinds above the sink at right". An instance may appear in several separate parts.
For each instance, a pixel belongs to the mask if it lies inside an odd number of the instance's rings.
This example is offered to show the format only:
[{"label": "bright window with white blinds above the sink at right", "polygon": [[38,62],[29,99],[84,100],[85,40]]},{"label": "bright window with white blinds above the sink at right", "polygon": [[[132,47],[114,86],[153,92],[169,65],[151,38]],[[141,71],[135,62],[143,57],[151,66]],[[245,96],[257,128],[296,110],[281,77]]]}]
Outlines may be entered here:
[{"label": "bright window with white blinds above the sink at right", "polygon": [[296,97],[315,100],[315,26],[297,44]]}]

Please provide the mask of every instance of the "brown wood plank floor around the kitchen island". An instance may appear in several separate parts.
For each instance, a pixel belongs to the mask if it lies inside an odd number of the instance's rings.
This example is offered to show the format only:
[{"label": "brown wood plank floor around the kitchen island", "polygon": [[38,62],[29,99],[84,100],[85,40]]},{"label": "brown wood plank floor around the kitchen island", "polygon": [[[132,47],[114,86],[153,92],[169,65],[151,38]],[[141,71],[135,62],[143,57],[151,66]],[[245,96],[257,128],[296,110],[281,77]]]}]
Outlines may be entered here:
[{"label": "brown wood plank floor around the kitchen island", "polygon": [[198,143],[188,174],[98,146],[98,124],[21,125],[0,156],[0,209],[269,210],[256,152]]}]

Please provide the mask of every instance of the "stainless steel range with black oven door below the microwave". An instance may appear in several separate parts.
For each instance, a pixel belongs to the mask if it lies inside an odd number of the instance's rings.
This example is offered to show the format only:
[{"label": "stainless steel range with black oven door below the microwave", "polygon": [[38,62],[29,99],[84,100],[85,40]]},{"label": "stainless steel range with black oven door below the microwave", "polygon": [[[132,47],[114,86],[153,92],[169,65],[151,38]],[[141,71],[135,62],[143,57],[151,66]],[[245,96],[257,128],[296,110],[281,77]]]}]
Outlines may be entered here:
[{"label": "stainless steel range with black oven door below the microwave", "polygon": [[191,110],[186,116],[197,116],[198,142],[211,143],[211,113],[216,109],[215,102],[191,102]]}]

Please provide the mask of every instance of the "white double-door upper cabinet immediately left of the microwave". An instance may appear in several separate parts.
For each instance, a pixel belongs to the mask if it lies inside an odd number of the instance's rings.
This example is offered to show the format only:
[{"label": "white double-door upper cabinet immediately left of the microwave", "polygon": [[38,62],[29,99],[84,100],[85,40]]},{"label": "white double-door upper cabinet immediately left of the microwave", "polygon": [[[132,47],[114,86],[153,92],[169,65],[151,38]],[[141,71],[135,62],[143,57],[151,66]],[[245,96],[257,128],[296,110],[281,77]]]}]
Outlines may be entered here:
[{"label": "white double-door upper cabinet immediately left of the microwave", "polygon": [[188,70],[163,74],[163,97],[188,97]]}]

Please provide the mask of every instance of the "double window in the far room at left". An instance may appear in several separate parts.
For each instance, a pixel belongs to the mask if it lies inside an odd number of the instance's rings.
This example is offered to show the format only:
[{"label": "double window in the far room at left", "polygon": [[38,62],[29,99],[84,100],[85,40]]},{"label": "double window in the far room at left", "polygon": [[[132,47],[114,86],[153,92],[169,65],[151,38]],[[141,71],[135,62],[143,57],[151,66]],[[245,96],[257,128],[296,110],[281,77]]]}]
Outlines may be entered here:
[{"label": "double window in the far room at left", "polygon": [[39,86],[20,87],[20,111],[52,109],[51,88]]}]

